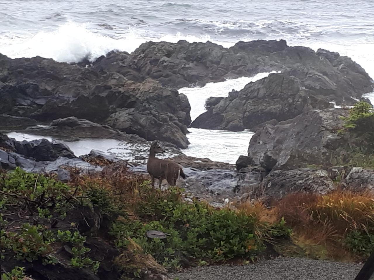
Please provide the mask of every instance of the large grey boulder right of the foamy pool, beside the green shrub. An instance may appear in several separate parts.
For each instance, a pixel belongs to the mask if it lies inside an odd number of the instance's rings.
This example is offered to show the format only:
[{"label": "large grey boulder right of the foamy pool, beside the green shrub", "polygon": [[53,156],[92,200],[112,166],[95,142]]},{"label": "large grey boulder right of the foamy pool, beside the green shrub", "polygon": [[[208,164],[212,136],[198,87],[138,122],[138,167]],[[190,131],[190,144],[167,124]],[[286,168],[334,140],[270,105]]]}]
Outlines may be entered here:
[{"label": "large grey boulder right of the foamy pool, beside the green shrub", "polygon": [[294,119],[265,124],[251,138],[248,156],[252,164],[270,171],[308,165],[334,166],[344,157],[349,139],[338,134],[347,110],[309,110]]}]

